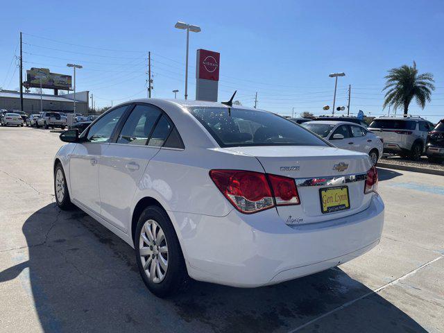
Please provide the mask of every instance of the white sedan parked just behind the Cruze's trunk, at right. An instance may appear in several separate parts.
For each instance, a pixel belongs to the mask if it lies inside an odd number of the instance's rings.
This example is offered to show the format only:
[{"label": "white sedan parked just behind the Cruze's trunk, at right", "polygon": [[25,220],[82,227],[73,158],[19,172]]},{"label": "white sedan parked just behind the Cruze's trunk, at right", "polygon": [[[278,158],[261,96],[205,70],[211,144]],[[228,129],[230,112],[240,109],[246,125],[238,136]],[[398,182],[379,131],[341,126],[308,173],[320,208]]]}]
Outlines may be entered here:
[{"label": "white sedan parked just behind the Cruze's trunk, at right", "polygon": [[364,126],[348,121],[309,121],[302,123],[302,126],[338,148],[368,154],[373,165],[382,156],[384,148],[382,139]]}]

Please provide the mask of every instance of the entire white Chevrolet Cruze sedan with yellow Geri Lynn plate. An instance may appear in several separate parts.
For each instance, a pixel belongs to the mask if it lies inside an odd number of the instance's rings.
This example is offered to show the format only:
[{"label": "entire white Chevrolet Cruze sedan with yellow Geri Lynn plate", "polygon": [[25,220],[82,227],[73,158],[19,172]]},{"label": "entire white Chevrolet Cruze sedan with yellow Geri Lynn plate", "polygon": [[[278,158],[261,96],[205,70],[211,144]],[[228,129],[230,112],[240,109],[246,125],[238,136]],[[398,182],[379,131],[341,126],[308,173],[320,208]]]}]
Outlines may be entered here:
[{"label": "entire white Chevrolet Cruze sedan with yellow Geri Lynn plate", "polygon": [[117,105],[54,160],[56,202],[135,248],[155,295],[191,277],[235,287],[292,280],[379,243],[384,203],[368,155],[271,112],[203,101]]}]

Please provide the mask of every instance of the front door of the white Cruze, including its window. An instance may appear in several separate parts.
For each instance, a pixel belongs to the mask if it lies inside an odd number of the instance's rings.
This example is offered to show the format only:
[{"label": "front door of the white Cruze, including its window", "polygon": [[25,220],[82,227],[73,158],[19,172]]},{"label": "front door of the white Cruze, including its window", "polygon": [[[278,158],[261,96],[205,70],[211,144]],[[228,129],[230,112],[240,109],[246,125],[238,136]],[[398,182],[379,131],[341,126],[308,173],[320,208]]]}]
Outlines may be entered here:
[{"label": "front door of the white Cruze, including its window", "polygon": [[128,105],[104,114],[85,134],[85,142],[74,148],[70,157],[69,180],[71,198],[96,214],[100,214],[99,166]]}]

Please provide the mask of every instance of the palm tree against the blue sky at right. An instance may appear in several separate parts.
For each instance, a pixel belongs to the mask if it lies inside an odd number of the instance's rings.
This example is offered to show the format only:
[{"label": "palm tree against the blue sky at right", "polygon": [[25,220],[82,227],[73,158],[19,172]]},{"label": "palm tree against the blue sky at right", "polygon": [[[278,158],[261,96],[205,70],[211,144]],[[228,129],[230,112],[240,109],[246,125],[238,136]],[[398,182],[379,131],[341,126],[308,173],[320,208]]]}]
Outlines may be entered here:
[{"label": "palm tree against the blue sky at right", "polygon": [[422,109],[425,108],[426,102],[432,101],[430,96],[435,89],[433,74],[418,74],[414,61],[413,67],[402,65],[399,68],[390,69],[385,78],[386,85],[382,89],[386,90],[383,108],[392,105],[396,110],[403,106],[404,117],[407,117],[412,99],[415,99]]}]

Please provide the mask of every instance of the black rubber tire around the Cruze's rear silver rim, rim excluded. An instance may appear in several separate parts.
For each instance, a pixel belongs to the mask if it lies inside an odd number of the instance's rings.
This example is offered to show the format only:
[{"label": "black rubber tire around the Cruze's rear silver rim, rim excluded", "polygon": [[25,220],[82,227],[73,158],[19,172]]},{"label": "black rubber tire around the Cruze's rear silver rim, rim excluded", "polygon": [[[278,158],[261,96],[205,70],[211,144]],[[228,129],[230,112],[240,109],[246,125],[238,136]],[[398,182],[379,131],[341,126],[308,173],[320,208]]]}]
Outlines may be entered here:
[{"label": "black rubber tire around the Cruze's rear silver rim, rim excluded", "polygon": [[[144,223],[148,220],[155,221],[157,225],[162,228],[162,231],[164,232],[164,239],[168,248],[167,271],[164,273],[164,279],[158,283],[153,282],[150,280],[150,278],[148,278],[148,275],[146,275],[139,252],[140,234],[142,232],[142,228],[144,227]],[[164,210],[162,210],[160,207],[148,206],[145,208],[142,214],[140,214],[135,233],[135,255],[137,267],[139,268],[139,273],[144,281],[144,284],[151,291],[151,293],[157,297],[165,298],[178,293],[179,289],[188,279],[187,267],[185,266],[185,260],[182,255],[182,249],[180,248],[176,231],[174,230],[173,224],[171,223],[167,213],[164,212]]]}]

